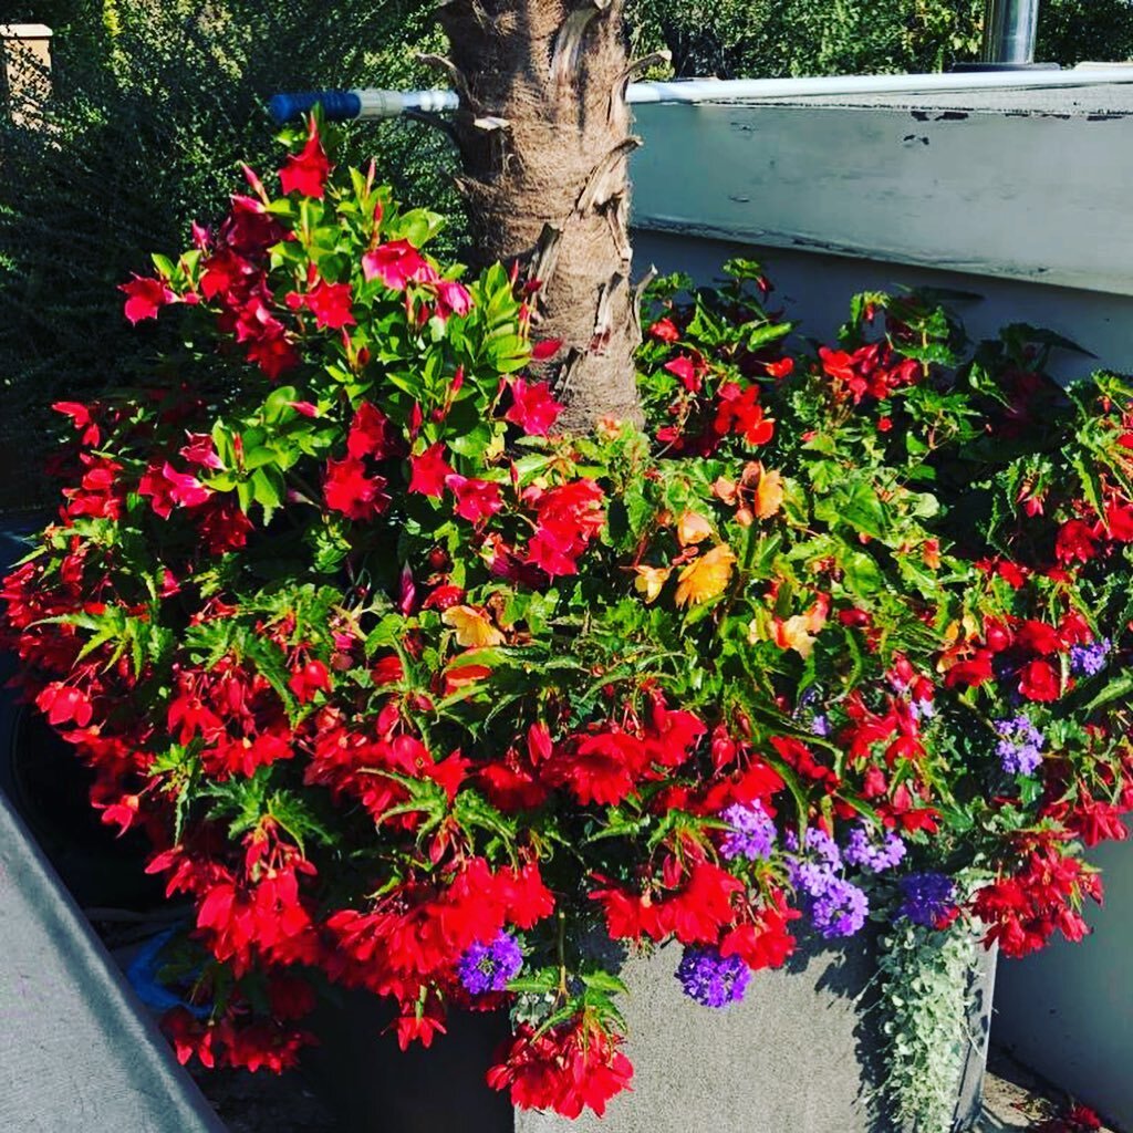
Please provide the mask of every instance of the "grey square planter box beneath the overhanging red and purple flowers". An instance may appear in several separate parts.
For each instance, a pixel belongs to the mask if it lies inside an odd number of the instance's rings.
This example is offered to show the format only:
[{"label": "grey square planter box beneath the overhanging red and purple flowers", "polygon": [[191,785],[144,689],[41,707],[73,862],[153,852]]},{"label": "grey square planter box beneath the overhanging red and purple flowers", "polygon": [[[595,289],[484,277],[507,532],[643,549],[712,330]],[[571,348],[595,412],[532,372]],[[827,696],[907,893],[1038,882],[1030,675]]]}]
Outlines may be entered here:
[{"label": "grey square planter box beneath the overhanging red and purple flowers", "polygon": [[[398,1051],[380,1008],[347,997],[312,1059],[351,1133],[897,1133],[875,1104],[880,1034],[872,942],[804,949],[752,977],[743,1003],[701,1007],[673,978],[679,949],[631,960],[624,977],[633,1091],[603,1118],[513,1113],[484,1084],[502,1017],[454,1017],[429,1051]],[[956,1128],[980,1109],[994,954],[973,972],[973,1043],[956,1083]],[[904,1133],[904,1131],[900,1131]]]}]

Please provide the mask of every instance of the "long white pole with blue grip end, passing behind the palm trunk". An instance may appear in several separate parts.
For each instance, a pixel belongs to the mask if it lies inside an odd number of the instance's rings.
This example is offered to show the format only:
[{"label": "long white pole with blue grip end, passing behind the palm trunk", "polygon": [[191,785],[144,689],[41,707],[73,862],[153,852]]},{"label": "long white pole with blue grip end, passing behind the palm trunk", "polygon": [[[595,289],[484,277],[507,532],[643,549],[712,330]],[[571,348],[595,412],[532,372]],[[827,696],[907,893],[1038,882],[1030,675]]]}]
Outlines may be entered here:
[{"label": "long white pole with blue grip end, passing behind the palm trunk", "polygon": [[[932,94],[949,91],[1048,90],[1133,83],[1133,67],[1087,63],[1068,70],[957,71],[943,75],[834,75],[817,78],[695,78],[673,83],[631,83],[627,99],[645,103],[755,102],[807,99],[816,95]],[[327,118],[397,118],[407,111],[437,113],[455,110],[454,91],[310,91],[276,94],[272,114],[287,121],[323,104]]]}]

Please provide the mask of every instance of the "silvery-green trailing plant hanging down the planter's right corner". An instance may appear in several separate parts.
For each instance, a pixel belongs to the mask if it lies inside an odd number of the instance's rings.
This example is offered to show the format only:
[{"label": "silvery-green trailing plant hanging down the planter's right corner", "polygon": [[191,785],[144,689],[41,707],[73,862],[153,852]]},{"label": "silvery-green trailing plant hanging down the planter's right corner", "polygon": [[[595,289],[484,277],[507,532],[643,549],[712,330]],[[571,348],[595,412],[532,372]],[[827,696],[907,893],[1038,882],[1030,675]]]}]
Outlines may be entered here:
[{"label": "silvery-green trailing plant hanging down the planter's right corner", "polygon": [[883,1100],[906,1133],[951,1133],[969,1046],[972,972],[980,936],[963,921],[947,930],[897,921],[881,939],[885,1036]]}]

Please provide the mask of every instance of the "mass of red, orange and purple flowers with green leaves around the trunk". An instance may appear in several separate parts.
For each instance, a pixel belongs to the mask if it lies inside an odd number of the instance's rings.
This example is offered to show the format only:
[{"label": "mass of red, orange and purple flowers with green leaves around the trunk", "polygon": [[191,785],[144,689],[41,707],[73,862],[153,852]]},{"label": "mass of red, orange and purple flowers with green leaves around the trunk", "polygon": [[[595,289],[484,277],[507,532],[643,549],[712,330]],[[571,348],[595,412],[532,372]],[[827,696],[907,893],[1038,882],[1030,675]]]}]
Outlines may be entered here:
[{"label": "mass of red, orange and purple flowers with green leaves around the trunk", "polygon": [[787,350],[736,261],[650,290],[645,429],[563,434],[530,289],[293,142],[123,284],[184,349],[58,406],[60,516],[3,585],[26,696],[195,904],[179,1057],[290,1066],[339,985],[402,1047],[505,1012],[487,1084],[600,1115],[627,948],[719,1011],[872,918],[883,1092],[946,1128],[909,973],[977,923],[1080,937],[1133,808],[1131,387],[917,297]]}]

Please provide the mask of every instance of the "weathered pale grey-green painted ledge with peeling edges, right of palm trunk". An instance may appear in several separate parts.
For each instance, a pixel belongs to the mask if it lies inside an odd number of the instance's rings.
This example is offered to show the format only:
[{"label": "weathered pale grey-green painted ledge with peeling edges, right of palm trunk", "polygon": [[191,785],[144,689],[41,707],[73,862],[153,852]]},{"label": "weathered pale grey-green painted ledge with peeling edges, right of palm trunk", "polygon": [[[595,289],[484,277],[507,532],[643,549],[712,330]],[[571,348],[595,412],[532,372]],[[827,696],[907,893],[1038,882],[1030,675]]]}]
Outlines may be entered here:
[{"label": "weathered pale grey-green painted ledge with peeling edges, right of palm trunk", "polygon": [[640,107],[638,229],[1133,295],[1133,87]]}]

